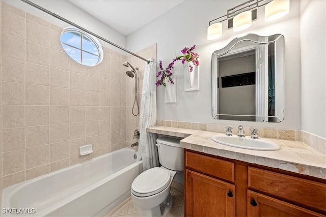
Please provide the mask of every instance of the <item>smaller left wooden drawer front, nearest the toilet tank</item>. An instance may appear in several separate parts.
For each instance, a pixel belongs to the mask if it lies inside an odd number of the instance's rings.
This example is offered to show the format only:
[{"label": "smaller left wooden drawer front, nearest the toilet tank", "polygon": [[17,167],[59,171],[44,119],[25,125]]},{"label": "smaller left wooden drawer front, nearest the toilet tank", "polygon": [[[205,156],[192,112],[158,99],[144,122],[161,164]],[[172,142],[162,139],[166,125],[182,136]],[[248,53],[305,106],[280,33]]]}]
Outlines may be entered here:
[{"label": "smaller left wooden drawer front, nearest the toilet tank", "polygon": [[185,152],[185,166],[189,169],[234,182],[234,163],[193,152]]}]

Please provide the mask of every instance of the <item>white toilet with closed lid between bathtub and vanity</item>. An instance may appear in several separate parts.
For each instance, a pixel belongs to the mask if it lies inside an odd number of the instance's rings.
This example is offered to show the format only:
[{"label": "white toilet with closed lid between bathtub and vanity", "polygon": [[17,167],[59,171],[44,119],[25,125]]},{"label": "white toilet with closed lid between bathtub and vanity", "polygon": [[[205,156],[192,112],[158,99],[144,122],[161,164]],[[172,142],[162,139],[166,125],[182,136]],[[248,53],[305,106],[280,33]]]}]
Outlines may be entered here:
[{"label": "white toilet with closed lid between bathtub and vanity", "polygon": [[171,183],[177,171],[183,170],[183,148],[180,140],[160,137],[156,140],[161,167],[138,175],[131,184],[131,199],[141,216],[167,216],[172,207]]}]

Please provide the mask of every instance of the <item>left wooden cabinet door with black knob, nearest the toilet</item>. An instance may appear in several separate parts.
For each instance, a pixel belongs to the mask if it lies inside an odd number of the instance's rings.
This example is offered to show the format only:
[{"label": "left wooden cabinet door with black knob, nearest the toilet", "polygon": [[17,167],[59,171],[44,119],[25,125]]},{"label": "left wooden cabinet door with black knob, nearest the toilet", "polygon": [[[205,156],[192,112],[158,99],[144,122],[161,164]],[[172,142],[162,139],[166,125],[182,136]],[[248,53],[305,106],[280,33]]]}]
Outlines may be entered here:
[{"label": "left wooden cabinet door with black knob, nearest the toilet", "polygon": [[185,216],[235,216],[235,185],[186,170]]}]

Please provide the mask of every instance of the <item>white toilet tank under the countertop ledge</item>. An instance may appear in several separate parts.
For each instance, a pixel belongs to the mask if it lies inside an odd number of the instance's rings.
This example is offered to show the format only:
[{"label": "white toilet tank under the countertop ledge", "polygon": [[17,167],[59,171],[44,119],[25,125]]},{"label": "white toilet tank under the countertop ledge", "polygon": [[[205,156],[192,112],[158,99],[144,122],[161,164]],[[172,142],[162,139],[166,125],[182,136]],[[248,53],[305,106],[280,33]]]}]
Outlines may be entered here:
[{"label": "white toilet tank under the countertop ledge", "polygon": [[183,170],[183,148],[180,147],[180,140],[170,137],[156,139],[159,163],[170,170]]}]

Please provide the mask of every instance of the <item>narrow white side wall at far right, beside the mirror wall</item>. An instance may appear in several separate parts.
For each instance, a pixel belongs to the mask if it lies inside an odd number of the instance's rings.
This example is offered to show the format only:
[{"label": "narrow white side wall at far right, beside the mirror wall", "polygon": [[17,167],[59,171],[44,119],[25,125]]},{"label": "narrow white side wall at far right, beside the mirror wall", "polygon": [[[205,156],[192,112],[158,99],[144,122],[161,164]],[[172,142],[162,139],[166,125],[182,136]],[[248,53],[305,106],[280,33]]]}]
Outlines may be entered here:
[{"label": "narrow white side wall at far right, beside the mirror wall", "polygon": [[300,2],[302,130],[326,138],[326,2]]}]

